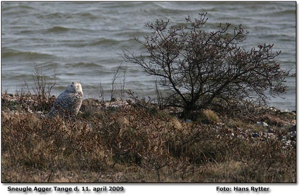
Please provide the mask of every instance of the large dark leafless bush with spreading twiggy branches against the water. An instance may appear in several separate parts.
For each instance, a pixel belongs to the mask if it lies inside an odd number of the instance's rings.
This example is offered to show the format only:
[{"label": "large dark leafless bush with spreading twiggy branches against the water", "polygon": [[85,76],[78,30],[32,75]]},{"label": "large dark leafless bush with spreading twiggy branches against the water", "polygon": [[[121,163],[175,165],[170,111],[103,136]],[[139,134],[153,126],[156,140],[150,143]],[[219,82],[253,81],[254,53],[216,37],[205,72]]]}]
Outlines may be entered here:
[{"label": "large dark leafless bush with spreading twiggy branches against the water", "polygon": [[220,24],[207,32],[205,13],[186,18],[187,24],[167,28],[169,21],[145,24],[153,30],[136,41],[145,47],[140,56],[124,51],[126,62],[135,63],[149,75],[160,78],[168,89],[164,104],[184,109],[184,115],[209,107],[237,111],[248,102],[268,103],[267,92],[277,96],[285,92],[285,76],[274,58],[273,45],[262,44],[246,51],[239,46],[248,32],[242,25],[233,28]]}]

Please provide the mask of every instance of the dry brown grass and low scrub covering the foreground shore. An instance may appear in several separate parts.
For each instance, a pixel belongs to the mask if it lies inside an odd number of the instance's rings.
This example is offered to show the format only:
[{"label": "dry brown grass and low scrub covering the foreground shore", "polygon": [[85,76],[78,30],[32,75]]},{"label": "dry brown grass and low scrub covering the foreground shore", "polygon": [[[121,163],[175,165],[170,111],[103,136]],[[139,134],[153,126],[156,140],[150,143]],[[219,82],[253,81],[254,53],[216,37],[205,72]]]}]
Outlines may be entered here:
[{"label": "dry brown grass and low scrub covering the foreground shore", "polygon": [[216,113],[188,124],[145,106],[90,103],[72,122],[2,102],[1,182],[296,182],[296,148],[230,136],[239,122],[217,131]]}]

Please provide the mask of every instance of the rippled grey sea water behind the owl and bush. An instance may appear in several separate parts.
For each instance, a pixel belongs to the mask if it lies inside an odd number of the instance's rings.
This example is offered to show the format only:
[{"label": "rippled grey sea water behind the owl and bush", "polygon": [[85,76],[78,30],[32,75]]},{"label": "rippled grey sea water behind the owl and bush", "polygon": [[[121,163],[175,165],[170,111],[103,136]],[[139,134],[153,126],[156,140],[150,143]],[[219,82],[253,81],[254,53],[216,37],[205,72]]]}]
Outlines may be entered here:
[{"label": "rippled grey sea water behind the owl and bush", "polygon": [[[32,85],[32,68],[42,67],[46,79],[58,68],[54,95],[71,81],[82,83],[85,97],[99,97],[100,82],[109,98],[111,80],[122,62],[123,50],[143,48],[142,39],[151,31],[145,23],[170,20],[185,23],[207,12],[207,29],[219,23],[242,24],[249,31],[243,47],[274,44],[281,51],[276,61],[296,73],[296,2],[1,2],[1,89]],[[133,64],[126,69],[126,89],[155,98],[154,78]],[[122,73],[121,73],[122,75]],[[121,76],[122,77],[122,76]],[[122,80],[122,78],[120,78]],[[272,98],[270,106],[296,110],[296,77],[287,77],[285,99]],[[117,87],[120,88],[120,87]],[[117,93],[115,96],[117,96]]]}]

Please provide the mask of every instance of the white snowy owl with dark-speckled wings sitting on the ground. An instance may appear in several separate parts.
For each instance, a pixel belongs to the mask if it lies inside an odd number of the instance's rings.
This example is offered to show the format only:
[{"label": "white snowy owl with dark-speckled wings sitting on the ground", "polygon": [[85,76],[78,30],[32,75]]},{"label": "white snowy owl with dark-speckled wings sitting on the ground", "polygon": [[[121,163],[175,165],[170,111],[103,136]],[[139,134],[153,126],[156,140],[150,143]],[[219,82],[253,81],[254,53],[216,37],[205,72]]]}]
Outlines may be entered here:
[{"label": "white snowy owl with dark-speckled wings sitting on the ground", "polygon": [[62,117],[75,116],[82,104],[83,92],[80,83],[72,82],[67,89],[55,100],[47,116],[55,117],[57,114]]}]

